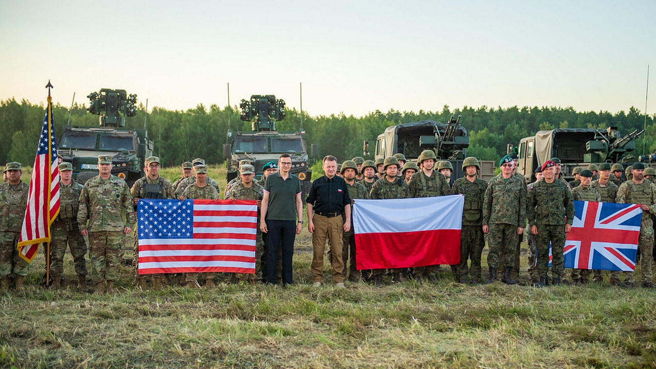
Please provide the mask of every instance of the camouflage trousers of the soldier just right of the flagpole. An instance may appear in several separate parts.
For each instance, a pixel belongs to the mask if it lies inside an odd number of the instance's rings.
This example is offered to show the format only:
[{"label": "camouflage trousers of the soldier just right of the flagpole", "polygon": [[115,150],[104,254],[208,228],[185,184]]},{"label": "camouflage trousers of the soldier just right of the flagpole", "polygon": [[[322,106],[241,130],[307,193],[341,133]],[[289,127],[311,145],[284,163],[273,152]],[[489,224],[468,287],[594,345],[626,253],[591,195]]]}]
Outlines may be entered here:
[{"label": "camouflage trousers of the soldier just right of the flagpole", "polygon": [[[61,276],[64,272],[64,255],[66,255],[66,247],[71,250],[73,255],[73,262],[75,263],[75,274],[78,276],[87,275],[87,260],[85,254],[87,253],[87,244],[84,237],[75,225],[67,222],[54,222],[50,226],[51,242],[50,242],[50,274],[53,276]],[[46,252],[46,247],[43,252]]]}]

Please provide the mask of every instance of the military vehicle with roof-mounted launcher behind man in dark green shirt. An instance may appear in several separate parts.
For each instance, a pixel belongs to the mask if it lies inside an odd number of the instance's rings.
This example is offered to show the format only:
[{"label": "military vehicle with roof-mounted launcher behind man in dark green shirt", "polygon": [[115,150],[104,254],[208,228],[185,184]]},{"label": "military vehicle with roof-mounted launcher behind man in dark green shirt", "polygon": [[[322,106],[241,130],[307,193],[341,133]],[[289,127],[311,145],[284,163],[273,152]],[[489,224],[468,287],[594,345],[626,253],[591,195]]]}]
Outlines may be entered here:
[{"label": "military vehicle with roof-mounted launcher behind man in dark green shirt", "polygon": [[262,166],[268,162],[278,161],[280,154],[291,156],[291,173],[298,176],[301,187],[306,194],[312,185],[312,164],[318,154],[318,146],[308,147],[305,132],[280,132],[276,130],[276,121],[285,119],[285,101],[275,95],[252,95],[250,100],[241,100],[241,117],[251,122],[250,132],[234,132],[228,128],[228,143],[223,145],[226,158],[226,180],[237,177],[239,161],[250,160],[255,166],[255,178],[262,177]]}]

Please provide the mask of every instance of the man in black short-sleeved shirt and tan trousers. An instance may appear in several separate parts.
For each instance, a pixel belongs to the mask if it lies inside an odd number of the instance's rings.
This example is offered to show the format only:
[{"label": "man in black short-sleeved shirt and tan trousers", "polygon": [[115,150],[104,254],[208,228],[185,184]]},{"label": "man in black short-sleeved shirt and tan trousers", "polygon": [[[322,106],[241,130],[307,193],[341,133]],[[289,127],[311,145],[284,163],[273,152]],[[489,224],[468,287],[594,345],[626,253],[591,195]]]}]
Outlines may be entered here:
[{"label": "man in black short-sleeved shirt and tan trousers", "polygon": [[[325,175],[312,182],[308,195],[308,230],[312,233],[312,286],[321,286],[323,280],[323,251],[326,238],[330,239],[333,255],[333,280],[338,288],[344,288],[344,262],[342,261],[342,230],[351,228],[351,199],[348,186],[337,175],[335,156],[323,158]],[[342,223],[342,213],[345,219]]]}]

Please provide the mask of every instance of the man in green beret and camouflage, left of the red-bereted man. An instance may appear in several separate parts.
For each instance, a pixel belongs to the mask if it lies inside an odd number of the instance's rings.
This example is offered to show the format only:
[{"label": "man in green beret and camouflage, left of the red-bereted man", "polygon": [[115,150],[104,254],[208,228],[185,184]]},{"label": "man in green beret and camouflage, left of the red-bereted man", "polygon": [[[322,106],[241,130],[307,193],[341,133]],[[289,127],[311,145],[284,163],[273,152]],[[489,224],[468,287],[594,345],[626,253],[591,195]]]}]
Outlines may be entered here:
[{"label": "man in green beret and camouflage, left of the red-bereted man", "polygon": [[[514,163],[506,155],[499,161],[501,174],[491,179],[485,190],[483,200],[483,233],[488,233],[487,265],[489,266],[488,283],[497,280],[497,268],[504,266],[502,282],[516,284],[511,278],[514,265],[515,248],[518,236],[524,232],[526,222],[526,185],[517,176],[512,175]],[[500,261],[499,255],[504,255]]]}]

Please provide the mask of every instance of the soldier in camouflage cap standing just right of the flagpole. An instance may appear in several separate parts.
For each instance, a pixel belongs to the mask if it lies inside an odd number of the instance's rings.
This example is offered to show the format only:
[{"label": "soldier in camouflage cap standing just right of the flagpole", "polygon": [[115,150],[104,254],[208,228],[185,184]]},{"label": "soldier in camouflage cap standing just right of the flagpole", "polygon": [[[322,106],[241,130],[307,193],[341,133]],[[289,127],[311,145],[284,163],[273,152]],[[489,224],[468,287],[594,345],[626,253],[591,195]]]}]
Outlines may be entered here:
[{"label": "soldier in camouflage cap standing just right of the flagpole", "polygon": [[[73,165],[61,163],[59,165],[59,214],[50,226],[50,274],[52,276],[51,288],[60,287],[64,272],[64,255],[66,246],[71,250],[77,274],[77,290],[87,289],[87,244],[80,234],[77,225],[77,210],[79,209],[80,192],[82,185],[72,180]],[[45,250],[45,249],[44,249]]]}]

